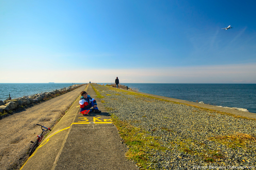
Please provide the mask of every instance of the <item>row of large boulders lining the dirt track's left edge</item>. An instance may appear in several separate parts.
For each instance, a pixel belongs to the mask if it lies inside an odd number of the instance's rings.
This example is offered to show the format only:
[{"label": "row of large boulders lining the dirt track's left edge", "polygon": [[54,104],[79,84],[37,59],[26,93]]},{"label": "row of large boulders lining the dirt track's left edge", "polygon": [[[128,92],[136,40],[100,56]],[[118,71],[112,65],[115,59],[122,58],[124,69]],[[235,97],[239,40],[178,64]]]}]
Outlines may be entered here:
[{"label": "row of large boulders lining the dirt track's left edge", "polygon": [[48,100],[52,97],[64,94],[66,92],[74,90],[83,85],[84,84],[74,84],[67,88],[65,87],[65,88],[61,88],[59,90],[56,89],[51,92],[42,92],[39,94],[30,95],[30,96],[19,97],[17,99],[10,99],[10,100],[7,99],[4,101],[0,100],[0,113],[9,112],[10,110],[17,109],[19,106],[22,107],[22,106],[26,106],[26,105],[30,105],[30,104]]}]

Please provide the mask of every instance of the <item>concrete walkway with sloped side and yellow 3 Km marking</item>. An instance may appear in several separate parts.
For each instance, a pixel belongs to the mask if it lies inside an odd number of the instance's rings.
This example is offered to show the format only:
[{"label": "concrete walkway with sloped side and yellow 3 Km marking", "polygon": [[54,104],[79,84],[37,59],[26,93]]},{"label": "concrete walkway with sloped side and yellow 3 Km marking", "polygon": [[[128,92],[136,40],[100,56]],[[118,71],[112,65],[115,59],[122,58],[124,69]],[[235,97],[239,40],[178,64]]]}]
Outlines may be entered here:
[{"label": "concrete walkway with sloped side and yellow 3 Km marking", "polygon": [[78,114],[79,96],[22,170],[138,169],[125,158],[126,147],[91,85],[85,91],[102,112]]}]

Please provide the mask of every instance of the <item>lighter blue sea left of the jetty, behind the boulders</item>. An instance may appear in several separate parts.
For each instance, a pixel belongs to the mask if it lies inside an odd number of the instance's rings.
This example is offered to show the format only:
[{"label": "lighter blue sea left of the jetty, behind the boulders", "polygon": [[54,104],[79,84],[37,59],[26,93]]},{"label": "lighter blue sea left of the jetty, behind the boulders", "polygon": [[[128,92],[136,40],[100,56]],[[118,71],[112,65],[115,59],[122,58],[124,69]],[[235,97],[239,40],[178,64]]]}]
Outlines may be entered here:
[{"label": "lighter blue sea left of the jetty, behind the boulders", "polygon": [[0,100],[9,98],[9,94],[12,99],[15,99],[72,85],[72,83],[0,83]]}]

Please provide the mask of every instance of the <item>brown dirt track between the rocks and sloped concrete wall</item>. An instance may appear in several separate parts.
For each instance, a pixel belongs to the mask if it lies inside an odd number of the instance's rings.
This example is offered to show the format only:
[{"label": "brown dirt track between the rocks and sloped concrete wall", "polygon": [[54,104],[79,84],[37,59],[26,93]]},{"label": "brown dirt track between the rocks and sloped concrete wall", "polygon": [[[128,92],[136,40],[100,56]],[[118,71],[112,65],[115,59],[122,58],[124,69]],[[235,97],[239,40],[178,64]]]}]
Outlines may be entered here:
[{"label": "brown dirt track between the rocks and sloped concrete wall", "polygon": [[52,128],[77,99],[86,85],[44,101],[0,120],[0,170],[19,169],[29,158],[30,141],[41,134],[41,126]]}]

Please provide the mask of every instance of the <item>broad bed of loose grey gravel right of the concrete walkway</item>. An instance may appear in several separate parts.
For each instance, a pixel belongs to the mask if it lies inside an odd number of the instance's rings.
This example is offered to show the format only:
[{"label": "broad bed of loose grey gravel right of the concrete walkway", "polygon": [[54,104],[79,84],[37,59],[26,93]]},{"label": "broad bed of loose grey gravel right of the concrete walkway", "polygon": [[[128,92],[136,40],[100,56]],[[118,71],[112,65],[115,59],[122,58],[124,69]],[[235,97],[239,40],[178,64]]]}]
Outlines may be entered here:
[{"label": "broad bed of loose grey gravel right of the concrete walkway", "polygon": [[[134,127],[149,131],[167,150],[151,150],[148,168],[202,169],[198,166],[223,166],[226,169],[256,168],[256,142],[230,147],[211,137],[235,133],[256,136],[254,120],[211,113],[184,104],[129,95],[118,89],[95,85],[104,98],[109,113]],[[108,95],[107,95],[108,94]],[[181,142],[181,143],[180,143]],[[231,141],[230,141],[231,142]],[[186,151],[184,151],[186,149]],[[215,156],[213,155],[215,153]],[[221,155],[218,157],[216,155]],[[207,158],[212,158],[207,161]],[[220,168],[220,167],[217,167]],[[248,168],[247,168],[248,169]]]}]

